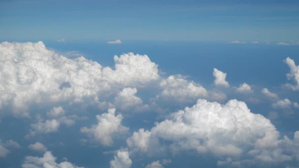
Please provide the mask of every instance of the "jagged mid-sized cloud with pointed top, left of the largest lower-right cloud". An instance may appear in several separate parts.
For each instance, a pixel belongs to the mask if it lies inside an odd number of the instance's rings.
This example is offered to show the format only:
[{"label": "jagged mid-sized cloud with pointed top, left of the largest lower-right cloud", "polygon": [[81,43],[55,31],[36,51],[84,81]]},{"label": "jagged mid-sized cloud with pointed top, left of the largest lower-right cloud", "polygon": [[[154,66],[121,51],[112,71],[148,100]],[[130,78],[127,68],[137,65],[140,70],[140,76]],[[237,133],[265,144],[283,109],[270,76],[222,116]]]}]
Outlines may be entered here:
[{"label": "jagged mid-sized cloud with pointed top, left of the largest lower-right cloud", "polygon": [[109,109],[107,113],[96,115],[97,125],[90,128],[82,127],[81,132],[89,135],[103,145],[112,145],[113,137],[126,133],[129,128],[121,125],[122,115],[115,116],[115,109]]}]

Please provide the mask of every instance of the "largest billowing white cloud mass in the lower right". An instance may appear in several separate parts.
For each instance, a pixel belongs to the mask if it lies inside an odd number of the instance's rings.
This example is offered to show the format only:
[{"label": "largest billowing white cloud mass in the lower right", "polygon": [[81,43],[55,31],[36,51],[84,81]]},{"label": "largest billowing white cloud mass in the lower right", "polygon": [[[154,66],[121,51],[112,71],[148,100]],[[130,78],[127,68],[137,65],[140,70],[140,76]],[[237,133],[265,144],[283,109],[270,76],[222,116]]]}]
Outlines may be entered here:
[{"label": "largest billowing white cloud mass in the lower right", "polygon": [[[267,163],[291,160],[279,147],[278,137],[279,132],[269,119],[250,112],[244,102],[230,100],[221,105],[199,99],[193,107],[171,114],[150,131],[134,132],[127,145],[132,152],[150,149],[159,153],[162,145],[174,153],[196,150],[217,157],[246,156]],[[163,141],[169,143],[161,144]]]}]

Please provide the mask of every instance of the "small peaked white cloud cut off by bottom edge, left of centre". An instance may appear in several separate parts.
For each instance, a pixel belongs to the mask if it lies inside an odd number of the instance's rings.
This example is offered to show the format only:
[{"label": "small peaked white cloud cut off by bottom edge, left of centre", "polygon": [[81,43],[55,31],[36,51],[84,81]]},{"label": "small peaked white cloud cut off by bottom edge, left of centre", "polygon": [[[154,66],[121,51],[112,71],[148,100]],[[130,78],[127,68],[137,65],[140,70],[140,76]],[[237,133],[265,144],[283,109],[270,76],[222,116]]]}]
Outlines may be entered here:
[{"label": "small peaked white cloud cut off by bottom edge, left of centre", "polygon": [[118,150],[114,159],[110,161],[110,168],[130,168],[132,161],[129,158],[128,151]]}]

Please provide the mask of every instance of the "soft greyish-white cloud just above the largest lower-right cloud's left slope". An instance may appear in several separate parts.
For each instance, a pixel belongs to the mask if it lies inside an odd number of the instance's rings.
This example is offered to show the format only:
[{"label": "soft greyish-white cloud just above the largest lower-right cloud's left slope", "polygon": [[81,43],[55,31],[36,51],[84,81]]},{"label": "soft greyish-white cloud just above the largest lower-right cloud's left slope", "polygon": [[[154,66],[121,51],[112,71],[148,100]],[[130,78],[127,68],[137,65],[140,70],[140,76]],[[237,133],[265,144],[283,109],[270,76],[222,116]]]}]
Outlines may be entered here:
[{"label": "soft greyish-white cloud just above the largest lower-right cloud's left slope", "polygon": [[206,96],[208,93],[200,84],[187,81],[180,75],[169,76],[167,79],[163,79],[160,82],[160,87],[163,90],[159,94],[159,97],[170,101],[188,102],[196,100],[200,96]]}]

